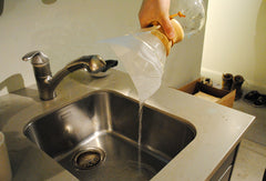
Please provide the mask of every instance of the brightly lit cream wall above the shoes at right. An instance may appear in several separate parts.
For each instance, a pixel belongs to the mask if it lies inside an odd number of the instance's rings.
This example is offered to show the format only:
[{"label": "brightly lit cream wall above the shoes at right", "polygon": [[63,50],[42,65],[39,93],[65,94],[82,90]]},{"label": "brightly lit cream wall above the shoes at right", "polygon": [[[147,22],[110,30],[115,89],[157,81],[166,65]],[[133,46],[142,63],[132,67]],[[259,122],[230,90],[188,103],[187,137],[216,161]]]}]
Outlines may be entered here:
[{"label": "brightly lit cream wall above the shoes at right", "polygon": [[266,90],[266,0],[211,0],[202,74],[242,74]]}]

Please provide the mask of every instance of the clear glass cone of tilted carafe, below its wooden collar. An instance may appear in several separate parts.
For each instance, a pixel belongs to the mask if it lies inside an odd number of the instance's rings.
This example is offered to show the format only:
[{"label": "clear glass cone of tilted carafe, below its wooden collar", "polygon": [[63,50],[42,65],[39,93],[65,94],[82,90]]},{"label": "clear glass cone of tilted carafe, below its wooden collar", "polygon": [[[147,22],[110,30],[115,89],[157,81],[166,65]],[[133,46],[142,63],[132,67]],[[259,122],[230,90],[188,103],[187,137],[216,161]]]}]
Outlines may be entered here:
[{"label": "clear glass cone of tilted carafe, below its wooden collar", "polygon": [[150,30],[103,41],[111,46],[122,61],[137,90],[140,102],[144,102],[160,88],[166,60],[164,44]]}]

